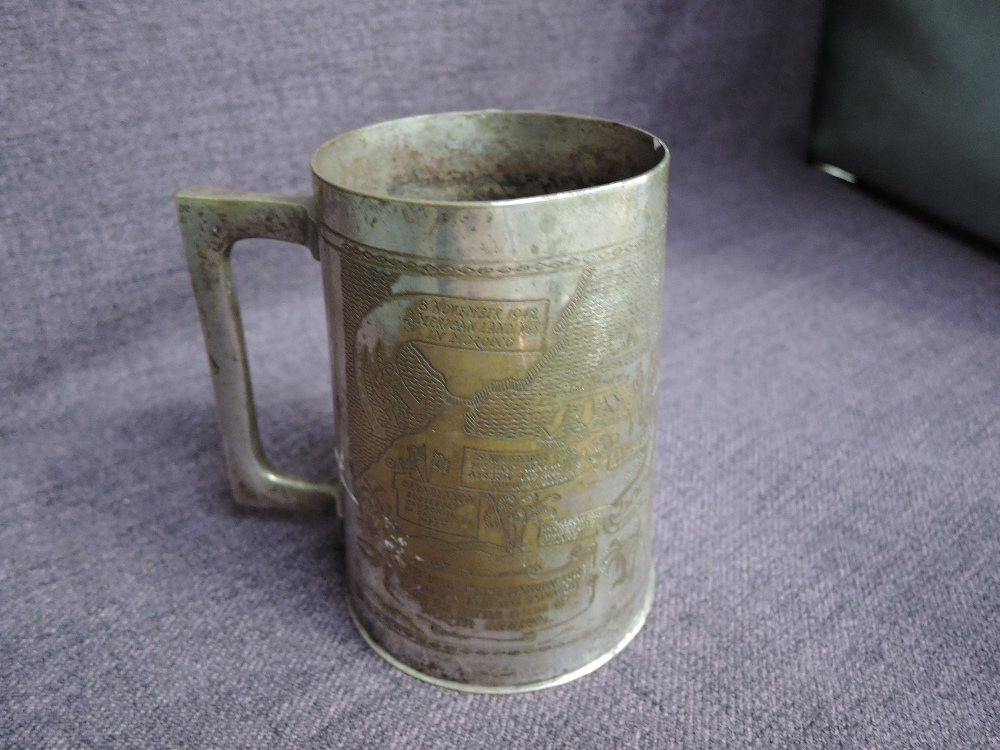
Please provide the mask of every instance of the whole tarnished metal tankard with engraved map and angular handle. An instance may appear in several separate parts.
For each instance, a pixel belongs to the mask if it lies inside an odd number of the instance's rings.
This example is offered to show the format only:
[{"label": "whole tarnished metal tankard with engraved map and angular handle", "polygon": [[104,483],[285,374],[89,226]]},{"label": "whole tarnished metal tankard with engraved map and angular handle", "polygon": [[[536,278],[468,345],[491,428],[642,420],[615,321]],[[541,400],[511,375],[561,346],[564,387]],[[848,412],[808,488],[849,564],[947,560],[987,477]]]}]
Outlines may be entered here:
[{"label": "whole tarnished metal tankard with engraved map and angular handle", "polygon": [[[628,125],[487,110],[338,136],[310,196],[178,194],[234,498],[336,507],[351,617],[408,674],[534,690],[642,627],[668,162]],[[229,266],[247,237],[321,262],[334,482],[264,457]]]}]

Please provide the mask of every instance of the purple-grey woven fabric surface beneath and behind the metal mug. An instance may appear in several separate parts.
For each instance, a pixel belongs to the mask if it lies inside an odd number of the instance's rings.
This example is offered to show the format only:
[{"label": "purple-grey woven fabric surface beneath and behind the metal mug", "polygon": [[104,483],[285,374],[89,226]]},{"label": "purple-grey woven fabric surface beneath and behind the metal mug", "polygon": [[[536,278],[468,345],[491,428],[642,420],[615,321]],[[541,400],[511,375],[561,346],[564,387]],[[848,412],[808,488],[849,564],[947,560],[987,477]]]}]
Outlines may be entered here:
[{"label": "purple-grey woven fabric surface beneath and behind the metal mug", "polygon": [[[1000,265],[802,161],[817,0],[0,8],[0,746],[1000,746]],[[540,693],[368,650],[332,522],[228,494],[172,196],[483,107],[673,151],[657,598]],[[332,469],[318,268],[236,253],[265,442]]]}]

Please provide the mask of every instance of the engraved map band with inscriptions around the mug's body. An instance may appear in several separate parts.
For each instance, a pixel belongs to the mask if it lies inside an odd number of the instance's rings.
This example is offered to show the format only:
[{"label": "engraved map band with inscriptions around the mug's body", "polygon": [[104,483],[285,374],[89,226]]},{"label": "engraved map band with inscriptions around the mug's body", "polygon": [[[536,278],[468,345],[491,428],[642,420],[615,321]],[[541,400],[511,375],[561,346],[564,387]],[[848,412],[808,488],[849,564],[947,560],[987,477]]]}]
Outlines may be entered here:
[{"label": "engraved map band with inscriptions around the mug's body", "polygon": [[[373,571],[359,596],[411,639],[531,642],[590,607],[602,579],[632,578],[651,499],[660,243],[514,266],[338,241]],[[497,280],[554,272],[572,273],[558,295],[538,281],[499,293],[514,287]],[[430,293],[403,288],[411,277],[460,281]]]}]

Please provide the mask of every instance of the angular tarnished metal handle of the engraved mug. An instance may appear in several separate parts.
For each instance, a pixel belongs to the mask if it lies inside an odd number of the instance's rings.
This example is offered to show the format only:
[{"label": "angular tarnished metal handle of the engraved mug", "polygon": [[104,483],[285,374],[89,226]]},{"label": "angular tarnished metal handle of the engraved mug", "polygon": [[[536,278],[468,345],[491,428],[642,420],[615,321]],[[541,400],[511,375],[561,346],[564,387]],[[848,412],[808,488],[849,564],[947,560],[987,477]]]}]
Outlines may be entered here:
[{"label": "angular tarnished metal handle of the engraved mug", "polygon": [[256,508],[332,508],[342,517],[339,483],[287,474],[264,456],[229,263],[233,243],[252,237],[305,245],[316,257],[315,225],[309,215],[312,196],[191,187],[176,200],[233,497],[240,505]]}]

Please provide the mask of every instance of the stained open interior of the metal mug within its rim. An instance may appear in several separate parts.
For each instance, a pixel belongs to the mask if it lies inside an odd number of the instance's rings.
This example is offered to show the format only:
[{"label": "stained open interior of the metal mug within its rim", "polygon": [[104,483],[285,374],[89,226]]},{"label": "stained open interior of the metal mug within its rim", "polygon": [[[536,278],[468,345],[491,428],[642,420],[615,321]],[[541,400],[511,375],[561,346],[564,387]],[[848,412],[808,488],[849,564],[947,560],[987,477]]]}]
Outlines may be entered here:
[{"label": "stained open interior of the metal mug within its rim", "polygon": [[458,112],[393,120],[338,136],[313,156],[316,176],[388,200],[505,201],[638,177],[666,157],[643,130],[541,112]]}]

